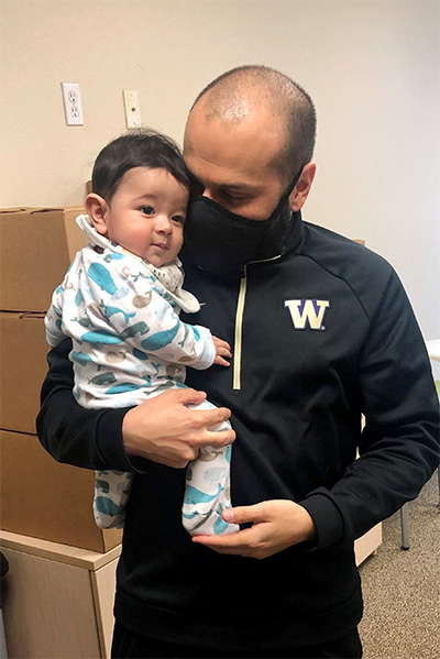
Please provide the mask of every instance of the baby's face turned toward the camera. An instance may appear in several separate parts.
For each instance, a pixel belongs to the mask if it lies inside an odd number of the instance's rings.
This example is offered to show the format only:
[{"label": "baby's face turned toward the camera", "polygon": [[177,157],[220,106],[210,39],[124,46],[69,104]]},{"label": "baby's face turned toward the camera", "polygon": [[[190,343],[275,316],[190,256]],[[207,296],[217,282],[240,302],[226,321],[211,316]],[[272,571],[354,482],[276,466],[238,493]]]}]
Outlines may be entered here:
[{"label": "baby's face turned toward the camera", "polygon": [[184,242],[188,197],[166,169],[129,169],[108,206],[106,235],[156,267],[169,263]]}]

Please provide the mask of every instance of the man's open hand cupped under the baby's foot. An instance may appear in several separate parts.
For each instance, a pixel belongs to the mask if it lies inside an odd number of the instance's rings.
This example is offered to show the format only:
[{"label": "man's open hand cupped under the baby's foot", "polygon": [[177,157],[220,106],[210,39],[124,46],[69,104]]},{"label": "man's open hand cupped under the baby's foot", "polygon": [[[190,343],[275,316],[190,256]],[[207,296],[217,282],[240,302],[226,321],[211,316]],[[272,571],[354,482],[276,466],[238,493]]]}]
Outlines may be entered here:
[{"label": "man's open hand cupped under the baby's foot", "polygon": [[306,508],[287,499],[228,508],[222,516],[226,521],[251,521],[253,526],[226,536],[194,536],[193,542],[210,547],[219,553],[261,559],[316,538],[315,523]]}]

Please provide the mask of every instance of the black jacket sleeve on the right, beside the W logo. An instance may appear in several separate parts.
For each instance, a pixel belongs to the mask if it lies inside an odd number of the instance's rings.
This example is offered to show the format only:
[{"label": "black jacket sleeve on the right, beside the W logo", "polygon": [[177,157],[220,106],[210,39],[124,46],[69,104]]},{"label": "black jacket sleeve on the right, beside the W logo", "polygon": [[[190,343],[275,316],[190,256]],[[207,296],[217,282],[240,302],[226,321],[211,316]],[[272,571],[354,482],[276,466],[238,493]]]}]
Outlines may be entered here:
[{"label": "black jacket sleeve on the right, beside the W logo", "polygon": [[370,314],[359,383],[365,426],[360,459],[330,491],[301,504],[318,528],[319,547],[354,540],[416,498],[439,466],[440,410],[425,341],[393,272]]}]

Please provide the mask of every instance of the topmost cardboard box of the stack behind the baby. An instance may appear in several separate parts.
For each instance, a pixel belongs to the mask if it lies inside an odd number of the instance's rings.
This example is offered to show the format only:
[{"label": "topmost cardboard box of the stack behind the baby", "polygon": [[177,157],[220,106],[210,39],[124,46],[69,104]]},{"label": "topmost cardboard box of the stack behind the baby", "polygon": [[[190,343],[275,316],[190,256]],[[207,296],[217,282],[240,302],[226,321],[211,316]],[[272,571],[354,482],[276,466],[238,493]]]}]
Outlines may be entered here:
[{"label": "topmost cardboard box of the stack behind the baby", "polygon": [[82,206],[0,210],[0,309],[47,311],[87,240],[75,219]]}]

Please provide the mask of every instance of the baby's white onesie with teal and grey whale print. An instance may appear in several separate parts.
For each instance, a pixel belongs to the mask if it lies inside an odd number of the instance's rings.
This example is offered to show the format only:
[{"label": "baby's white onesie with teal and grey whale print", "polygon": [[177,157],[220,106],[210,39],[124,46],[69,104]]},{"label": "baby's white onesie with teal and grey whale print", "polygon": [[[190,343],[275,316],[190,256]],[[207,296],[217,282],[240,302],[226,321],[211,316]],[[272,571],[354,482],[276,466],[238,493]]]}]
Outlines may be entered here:
[{"label": "baby's white onesie with teal and grey whale print", "polygon": [[[210,331],[183,322],[196,297],[183,289],[176,259],[160,268],[100,235],[88,216],[77,218],[89,244],[79,251],[55,290],[46,315],[46,339],[70,337],[74,396],[84,407],[134,406],[168,388],[185,387],[185,366],[208,369],[216,358]],[[193,409],[211,409],[205,400]],[[211,430],[229,428],[228,421]],[[239,530],[221,513],[231,506],[231,447],[207,447],[188,464],[183,524],[190,534]],[[101,528],[120,528],[133,473],[96,472],[94,512]]]}]

